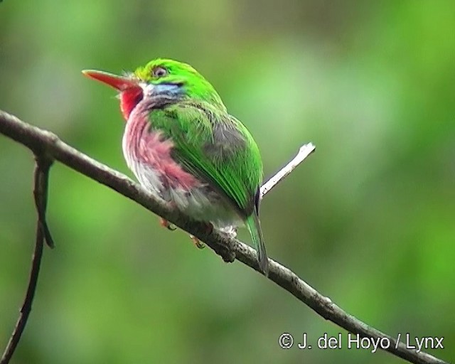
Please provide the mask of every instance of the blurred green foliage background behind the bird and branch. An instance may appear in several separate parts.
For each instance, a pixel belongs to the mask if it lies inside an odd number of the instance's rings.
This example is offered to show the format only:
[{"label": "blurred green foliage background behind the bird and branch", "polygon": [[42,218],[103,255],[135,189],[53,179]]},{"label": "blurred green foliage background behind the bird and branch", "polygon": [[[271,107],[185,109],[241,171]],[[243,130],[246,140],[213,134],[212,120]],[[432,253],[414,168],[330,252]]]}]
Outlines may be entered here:
[{"label": "blurred green foliage background behind the bird and branch", "polygon": [[[455,358],[453,1],[31,1],[0,4],[0,108],[127,173],[114,91],[80,70],[191,63],[255,136],[265,176],[316,154],[264,199],[271,257],[366,323],[444,336]],[[33,156],[0,136],[0,346],[28,280]],[[60,164],[13,363],[403,363],[282,350],[347,333],[239,262]],[[240,237],[249,241],[247,234]]]}]

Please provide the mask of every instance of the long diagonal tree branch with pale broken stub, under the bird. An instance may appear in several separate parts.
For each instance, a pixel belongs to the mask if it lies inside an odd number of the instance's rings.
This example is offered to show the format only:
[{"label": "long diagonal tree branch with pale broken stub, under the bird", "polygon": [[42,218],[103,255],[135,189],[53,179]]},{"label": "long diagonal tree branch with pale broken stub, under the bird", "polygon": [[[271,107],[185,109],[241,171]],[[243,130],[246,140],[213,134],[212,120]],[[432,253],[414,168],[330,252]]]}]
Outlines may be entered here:
[{"label": "long diagonal tree branch with pale broken stub, under the bird", "polygon": [[[250,246],[240,242],[236,239],[231,239],[227,235],[223,235],[216,230],[208,232],[205,228],[205,224],[198,223],[191,220],[188,216],[179,212],[178,210],[171,210],[166,205],[161,205],[159,200],[156,200],[147,191],[144,190],[137,183],[134,183],[131,179],[124,176],[122,173],[114,171],[112,168],[100,164],[100,162],[91,159],[89,156],[82,154],[80,151],[68,146],[63,141],[60,141],[55,134],[43,131],[37,127],[33,127],[30,124],[21,122],[16,117],[6,114],[0,111],[0,133],[6,135],[18,143],[21,143],[31,149],[35,154],[39,152],[45,153],[46,156],[52,157],[60,161],[61,163],[73,168],[85,176],[98,181],[114,191],[121,193],[123,196],[130,198],[144,208],[150,210],[156,215],[168,220],[179,228],[186,230],[191,235],[198,237],[201,241],[205,242],[210,248],[212,248],[218,255],[223,257],[226,262],[232,262],[235,259],[246,264],[247,266],[255,269],[259,272],[257,264],[257,255],[255,250]],[[308,149],[306,153],[311,153],[311,144],[307,144]],[[313,147],[314,148],[314,147]],[[301,154],[300,154],[301,153]],[[300,151],[298,158],[303,160],[304,152]],[[296,159],[298,161],[299,159]],[[296,162],[295,161],[295,162]],[[296,163],[298,164],[298,163]],[[295,168],[294,164],[289,167],[288,173]],[[279,173],[278,173],[279,174]],[[284,177],[277,178],[277,181],[281,181]],[[275,178],[271,178],[270,181],[274,181]],[[270,182],[270,187],[265,189],[267,182],[262,188],[262,194],[264,195],[269,191],[277,182]],[[406,348],[402,342],[397,343],[395,338],[387,336],[385,333],[376,330],[356,319],[354,316],[346,313],[336,304],[334,304],[328,297],[323,296],[313,287],[306,284],[300,279],[294,272],[291,272],[287,267],[282,266],[278,262],[269,259],[269,279],[278,284],[283,289],[289,291],[297,299],[304,302],[307,306],[311,307],[324,319],[328,319],[338,326],[345,328],[351,333],[358,333],[362,337],[370,338],[388,338],[390,346],[386,348],[388,352],[393,355],[397,355],[400,358],[410,361],[411,363],[429,364],[429,363],[445,363],[443,360],[435,358],[427,353],[419,352]]]}]

